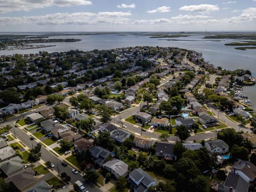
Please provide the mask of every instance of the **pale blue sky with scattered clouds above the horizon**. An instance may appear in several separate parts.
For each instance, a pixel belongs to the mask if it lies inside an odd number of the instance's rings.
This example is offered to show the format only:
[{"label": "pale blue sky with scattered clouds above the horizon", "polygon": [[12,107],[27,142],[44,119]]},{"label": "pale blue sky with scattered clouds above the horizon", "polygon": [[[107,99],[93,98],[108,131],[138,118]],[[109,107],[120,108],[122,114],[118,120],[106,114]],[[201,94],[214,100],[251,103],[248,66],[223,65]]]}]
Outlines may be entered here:
[{"label": "pale blue sky with scattered clouds above the horizon", "polygon": [[0,31],[250,31],[256,0],[0,0]]}]

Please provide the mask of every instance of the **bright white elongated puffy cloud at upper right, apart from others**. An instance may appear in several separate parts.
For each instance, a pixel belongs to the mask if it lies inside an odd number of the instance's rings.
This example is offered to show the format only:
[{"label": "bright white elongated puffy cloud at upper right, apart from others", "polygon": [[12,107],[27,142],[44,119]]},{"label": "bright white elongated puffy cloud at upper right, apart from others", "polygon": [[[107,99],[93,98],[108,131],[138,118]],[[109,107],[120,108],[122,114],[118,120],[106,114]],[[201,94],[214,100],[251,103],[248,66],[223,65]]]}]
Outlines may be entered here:
[{"label": "bright white elongated puffy cloud at upper right, apart from others", "polygon": [[219,7],[217,5],[210,4],[200,4],[200,5],[191,5],[180,7],[181,11],[195,11],[198,13],[210,13],[212,11],[218,11]]}]

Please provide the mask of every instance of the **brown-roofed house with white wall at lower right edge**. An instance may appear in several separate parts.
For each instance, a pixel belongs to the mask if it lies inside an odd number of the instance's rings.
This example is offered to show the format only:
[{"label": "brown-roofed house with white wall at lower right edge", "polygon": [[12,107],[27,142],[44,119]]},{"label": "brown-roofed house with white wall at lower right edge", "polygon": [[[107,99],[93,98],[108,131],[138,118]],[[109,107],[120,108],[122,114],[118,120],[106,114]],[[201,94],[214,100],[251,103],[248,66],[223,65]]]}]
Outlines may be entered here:
[{"label": "brown-roofed house with white wall at lower right edge", "polygon": [[256,166],[250,161],[239,159],[232,166],[231,172],[240,175],[247,183],[251,183],[256,178]]}]

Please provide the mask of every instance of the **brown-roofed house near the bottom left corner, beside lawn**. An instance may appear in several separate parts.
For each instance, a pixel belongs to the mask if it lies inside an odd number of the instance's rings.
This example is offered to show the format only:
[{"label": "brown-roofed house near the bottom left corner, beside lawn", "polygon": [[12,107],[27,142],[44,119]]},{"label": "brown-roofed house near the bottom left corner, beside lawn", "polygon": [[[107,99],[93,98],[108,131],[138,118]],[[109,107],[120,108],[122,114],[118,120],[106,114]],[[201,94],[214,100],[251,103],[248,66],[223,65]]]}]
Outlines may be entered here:
[{"label": "brown-roofed house near the bottom left corner, beside lawn", "polygon": [[32,170],[32,168],[26,168],[7,177],[4,180],[7,183],[11,183],[12,185],[16,186],[16,188],[22,192],[34,185],[35,181],[37,180],[34,175],[35,172]]}]

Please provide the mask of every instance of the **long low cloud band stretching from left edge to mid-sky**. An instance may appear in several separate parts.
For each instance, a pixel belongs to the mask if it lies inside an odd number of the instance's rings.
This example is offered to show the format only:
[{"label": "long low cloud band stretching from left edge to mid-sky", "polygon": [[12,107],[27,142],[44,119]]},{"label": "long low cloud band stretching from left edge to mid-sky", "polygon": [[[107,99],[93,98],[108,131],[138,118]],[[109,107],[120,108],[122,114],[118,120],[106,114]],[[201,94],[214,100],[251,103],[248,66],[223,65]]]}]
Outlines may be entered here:
[{"label": "long low cloud band stretching from left edge to mid-sky", "polygon": [[66,25],[66,24],[129,24],[128,12],[78,12],[78,13],[54,13],[30,17],[0,17],[0,25]]}]

